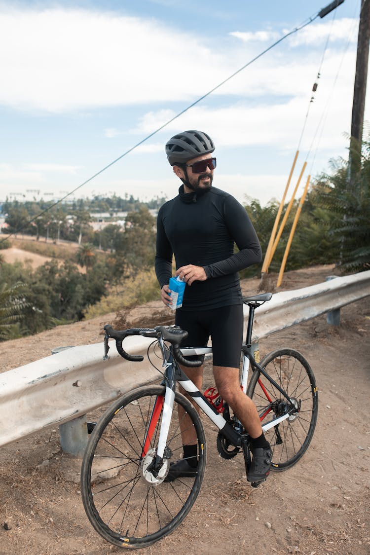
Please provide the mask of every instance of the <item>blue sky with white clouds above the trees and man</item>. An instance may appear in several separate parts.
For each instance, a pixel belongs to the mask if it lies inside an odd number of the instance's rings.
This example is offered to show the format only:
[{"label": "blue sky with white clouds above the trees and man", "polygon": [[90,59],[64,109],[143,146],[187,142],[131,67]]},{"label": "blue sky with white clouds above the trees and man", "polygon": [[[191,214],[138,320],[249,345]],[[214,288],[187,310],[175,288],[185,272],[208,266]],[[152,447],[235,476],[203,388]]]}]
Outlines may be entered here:
[{"label": "blue sky with white clouds above the trees and man", "polygon": [[299,149],[300,196],[348,158],[361,0],[310,22],[328,3],[0,0],[0,201],[88,180],[69,198],[173,198],[164,147],[186,129],[212,137],[214,186],[241,203],[280,201]]}]

